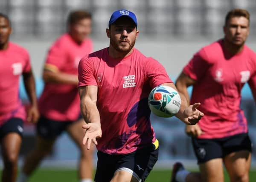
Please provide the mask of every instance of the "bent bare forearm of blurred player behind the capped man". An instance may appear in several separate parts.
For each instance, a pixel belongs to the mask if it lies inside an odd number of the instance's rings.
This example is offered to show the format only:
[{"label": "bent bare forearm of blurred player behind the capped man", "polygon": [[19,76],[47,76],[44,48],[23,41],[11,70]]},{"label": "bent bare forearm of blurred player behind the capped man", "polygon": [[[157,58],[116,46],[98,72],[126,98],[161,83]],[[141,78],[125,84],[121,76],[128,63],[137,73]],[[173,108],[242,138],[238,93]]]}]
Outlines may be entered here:
[{"label": "bent bare forearm of blurred player behind the capped man", "polygon": [[60,71],[50,71],[47,69],[44,69],[43,72],[43,79],[44,82],[52,82],[56,84],[78,84],[78,76],[77,75],[71,75]]}]

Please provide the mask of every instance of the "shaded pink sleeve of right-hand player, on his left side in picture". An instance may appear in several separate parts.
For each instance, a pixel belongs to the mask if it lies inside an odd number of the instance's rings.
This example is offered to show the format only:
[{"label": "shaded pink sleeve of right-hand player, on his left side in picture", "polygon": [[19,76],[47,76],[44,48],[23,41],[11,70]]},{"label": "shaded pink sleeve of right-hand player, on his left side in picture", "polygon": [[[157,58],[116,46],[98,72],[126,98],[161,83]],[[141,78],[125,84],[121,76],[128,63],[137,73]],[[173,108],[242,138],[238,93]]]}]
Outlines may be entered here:
[{"label": "shaded pink sleeve of right-hand player, on his left side in picture", "polygon": [[189,63],[184,67],[183,72],[193,80],[203,78],[210,64],[204,49],[197,52]]}]

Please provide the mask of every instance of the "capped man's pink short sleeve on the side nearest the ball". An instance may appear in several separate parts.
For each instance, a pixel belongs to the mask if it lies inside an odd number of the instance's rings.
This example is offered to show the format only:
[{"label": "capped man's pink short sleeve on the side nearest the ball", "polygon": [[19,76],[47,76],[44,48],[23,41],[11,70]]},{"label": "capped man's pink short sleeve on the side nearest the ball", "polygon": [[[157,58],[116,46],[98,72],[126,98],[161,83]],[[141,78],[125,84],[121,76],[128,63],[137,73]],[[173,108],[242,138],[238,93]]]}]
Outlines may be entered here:
[{"label": "capped man's pink short sleeve on the side nearest the ball", "polygon": [[148,58],[146,61],[145,72],[151,88],[164,83],[173,83],[163,65],[153,58]]}]

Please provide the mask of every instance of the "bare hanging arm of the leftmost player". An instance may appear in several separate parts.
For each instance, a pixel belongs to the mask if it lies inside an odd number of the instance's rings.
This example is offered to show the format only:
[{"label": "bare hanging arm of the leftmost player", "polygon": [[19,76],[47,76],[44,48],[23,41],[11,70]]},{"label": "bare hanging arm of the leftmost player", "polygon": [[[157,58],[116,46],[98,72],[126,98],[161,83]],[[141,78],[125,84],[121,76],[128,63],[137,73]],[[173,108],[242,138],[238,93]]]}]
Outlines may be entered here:
[{"label": "bare hanging arm of the leftmost player", "polygon": [[39,111],[35,93],[35,78],[32,70],[23,72],[23,82],[31,104],[27,113],[27,121],[35,123],[38,121]]}]

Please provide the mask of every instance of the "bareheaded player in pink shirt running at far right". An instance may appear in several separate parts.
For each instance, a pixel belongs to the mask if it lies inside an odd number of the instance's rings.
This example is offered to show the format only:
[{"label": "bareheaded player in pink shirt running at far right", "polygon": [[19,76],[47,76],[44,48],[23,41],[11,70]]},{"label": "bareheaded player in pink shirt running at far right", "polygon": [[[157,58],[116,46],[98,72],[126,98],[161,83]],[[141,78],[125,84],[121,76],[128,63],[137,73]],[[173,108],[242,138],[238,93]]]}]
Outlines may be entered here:
[{"label": "bareheaded player in pink shirt running at far right", "polygon": [[200,102],[205,116],[186,126],[201,173],[189,173],[176,163],[172,182],[224,182],[223,162],[231,182],[248,182],[251,141],[247,120],[239,107],[247,82],[256,101],[256,54],[244,43],[249,35],[250,14],[233,9],[226,15],[224,38],[197,52],[177,78],[176,87],[188,102]]}]

